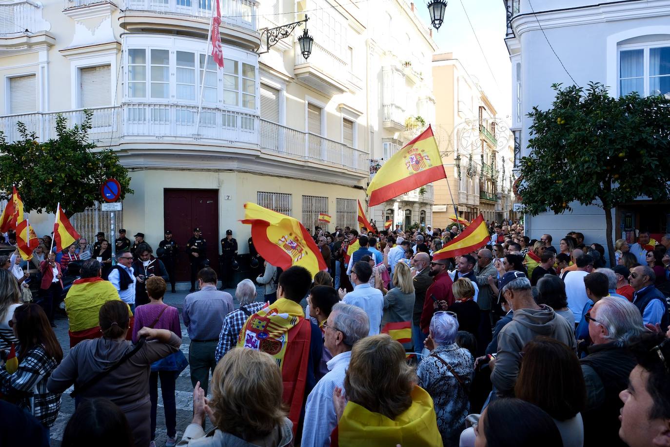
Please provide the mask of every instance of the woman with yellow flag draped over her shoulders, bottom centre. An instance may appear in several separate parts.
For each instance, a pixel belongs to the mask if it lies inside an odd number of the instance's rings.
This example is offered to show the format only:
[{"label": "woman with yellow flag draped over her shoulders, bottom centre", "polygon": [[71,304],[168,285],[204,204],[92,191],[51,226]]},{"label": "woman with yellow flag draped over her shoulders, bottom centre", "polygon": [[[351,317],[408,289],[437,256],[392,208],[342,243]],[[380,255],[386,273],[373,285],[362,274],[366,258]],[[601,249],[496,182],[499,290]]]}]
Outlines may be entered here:
[{"label": "woman with yellow flag draped over her shoulders, bottom centre", "polygon": [[[341,388],[333,393],[339,422],[330,445],[441,446],[433,399],[417,380],[405,350],[389,335],[358,340],[351,350],[344,393]],[[375,434],[374,442],[370,433]]]}]

